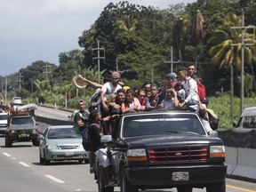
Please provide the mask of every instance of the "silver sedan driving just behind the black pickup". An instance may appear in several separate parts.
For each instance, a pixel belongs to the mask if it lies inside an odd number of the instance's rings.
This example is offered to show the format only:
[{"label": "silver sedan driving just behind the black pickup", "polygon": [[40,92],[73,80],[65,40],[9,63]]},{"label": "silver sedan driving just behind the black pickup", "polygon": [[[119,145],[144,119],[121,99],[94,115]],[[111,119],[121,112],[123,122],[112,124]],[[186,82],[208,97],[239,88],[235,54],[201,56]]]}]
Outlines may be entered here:
[{"label": "silver sedan driving just behind the black pickup", "polygon": [[78,160],[88,163],[89,152],[82,145],[80,134],[76,134],[73,125],[56,125],[48,127],[39,145],[40,164],[51,161]]}]

